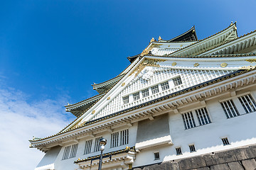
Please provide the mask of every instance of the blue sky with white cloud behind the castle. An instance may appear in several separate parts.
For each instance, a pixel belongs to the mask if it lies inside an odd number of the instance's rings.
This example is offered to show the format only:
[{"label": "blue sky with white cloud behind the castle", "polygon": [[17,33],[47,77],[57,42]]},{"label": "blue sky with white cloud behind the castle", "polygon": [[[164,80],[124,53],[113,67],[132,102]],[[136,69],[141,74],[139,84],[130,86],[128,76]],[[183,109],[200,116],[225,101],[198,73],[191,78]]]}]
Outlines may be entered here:
[{"label": "blue sky with white cloud behind the castle", "polygon": [[[34,169],[43,153],[28,140],[75,119],[67,103],[95,96],[159,35],[196,26],[198,39],[237,21],[256,29],[255,0],[0,0],[0,169]],[[4,140],[3,140],[4,138]]]}]

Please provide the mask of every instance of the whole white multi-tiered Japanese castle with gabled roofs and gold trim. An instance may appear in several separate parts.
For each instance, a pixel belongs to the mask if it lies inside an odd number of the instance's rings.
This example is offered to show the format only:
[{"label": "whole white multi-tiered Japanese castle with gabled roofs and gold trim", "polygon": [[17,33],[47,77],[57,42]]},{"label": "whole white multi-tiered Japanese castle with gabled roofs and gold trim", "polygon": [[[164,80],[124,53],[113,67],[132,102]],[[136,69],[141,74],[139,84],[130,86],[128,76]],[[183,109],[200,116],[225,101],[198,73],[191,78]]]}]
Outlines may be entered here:
[{"label": "whole white multi-tiered Japanese castle with gabled roofs and gold trim", "polygon": [[256,145],[256,31],[238,37],[231,23],[198,40],[193,27],[152,38],[128,60],[117,77],[92,85],[97,96],[65,106],[77,117],[70,125],[30,140],[46,152],[36,170],[97,169],[102,137],[102,169],[119,170]]}]

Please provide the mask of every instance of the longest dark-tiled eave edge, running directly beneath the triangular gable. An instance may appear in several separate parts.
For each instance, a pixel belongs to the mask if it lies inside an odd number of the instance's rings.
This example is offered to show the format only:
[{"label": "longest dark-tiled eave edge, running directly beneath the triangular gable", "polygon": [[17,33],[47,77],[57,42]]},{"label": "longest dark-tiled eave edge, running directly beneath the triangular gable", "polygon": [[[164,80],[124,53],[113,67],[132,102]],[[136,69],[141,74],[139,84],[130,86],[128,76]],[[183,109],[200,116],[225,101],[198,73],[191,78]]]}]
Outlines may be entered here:
[{"label": "longest dark-tiled eave edge, running directly beneath the triangular gable", "polygon": [[[111,115],[106,115],[105,117],[98,118],[96,120],[92,120],[92,121],[84,123],[83,125],[80,125],[80,126],[78,126],[76,128],[70,128],[69,130],[61,131],[61,132],[58,132],[55,135],[51,135],[49,137],[43,137],[43,138],[38,139],[38,140],[29,140],[29,142],[31,142],[32,145],[38,145],[38,144],[41,144],[43,142],[48,142],[48,140],[50,140],[50,138],[56,137],[58,135],[62,135],[63,136],[66,133],[70,134],[74,130],[78,130],[80,128],[86,128],[89,125],[93,125],[95,123],[100,123],[100,122],[108,120],[110,118],[114,118],[116,116],[123,115],[124,113],[128,113],[128,112],[131,112],[131,111],[136,111],[137,109],[141,109],[141,108],[144,108],[146,106],[151,106],[151,104],[154,104],[154,103],[159,103],[161,101],[165,101],[165,100],[168,100],[170,98],[176,98],[178,96],[181,96],[181,95],[184,95],[184,94],[187,94],[187,93],[192,93],[192,91],[200,92],[201,89],[205,88],[206,86],[214,86],[215,84],[221,83],[222,81],[225,81],[227,79],[235,79],[235,77],[238,77],[241,74],[246,74],[247,72],[251,72],[252,70],[255,70],[255,69],[256,69],[256,67],[240,69],[240,70],[238,70],[236,72],[232,72],[230,74],[226,74],[223,77],[218,77],[216,79],[212,79],[210,81],[203,82],[202,84],[197,84],[196,86],[191,86],[191,87],[183,89],[181,91],[176,91],[173,94],[169,94],[169,95],[163,96],[161,98],[156,98],[156,99],[154,99],[152,101],[149,101],[149,102],[146,102],[146,103],[142,103],[139,106],[133,106],[133,107],[127,108],[127,109],[125,109],[123,111],[119,111],[117,113],[112,113]],[[242,78],[242,77],[240,77],[240,78]],[[240,79],[240,78],[238,78],[238,79]],[[252,79],[251,81],[255,81],[255,79],[254,80]],[[102,125],[102,123],[100,123],[99,125]]]}]

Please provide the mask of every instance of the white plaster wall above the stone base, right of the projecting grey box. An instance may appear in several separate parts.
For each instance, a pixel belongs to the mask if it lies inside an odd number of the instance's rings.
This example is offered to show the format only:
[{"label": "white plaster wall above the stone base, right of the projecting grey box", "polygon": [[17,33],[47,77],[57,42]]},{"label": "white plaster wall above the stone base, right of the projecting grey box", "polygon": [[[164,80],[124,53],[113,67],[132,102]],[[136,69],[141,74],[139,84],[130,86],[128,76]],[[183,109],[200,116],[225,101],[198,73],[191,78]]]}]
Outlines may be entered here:
[{"label": "white plaster wall above the stone base, right of the projecting grey box", "polygon": [[[251,91],[256,100],[256,91]],[[223,98],[225,99],[225,98]],[[218,152],[225,149],[256,144],[256,112],[245,113],[237,96],[233,101],[240,112],[240,116],[226,118],[223,108],[219,103],[220,98],[206,102],[212,123],[185,130],[180,113],[169,115],[171,140],[174,145],[165,145],[144,149],[136,156],[133,167],[166,162],[199,154]],[[196,124],[198,120],[194,116]],[[223,146],[222,137],[228,137],[230,145]],[[190,152],[188,145],[195,145],[196,152]],[[181,155],[176,155],[176,147],[181,147]],[[154,152],[159,152],[160,159],[154,160]]]}]

